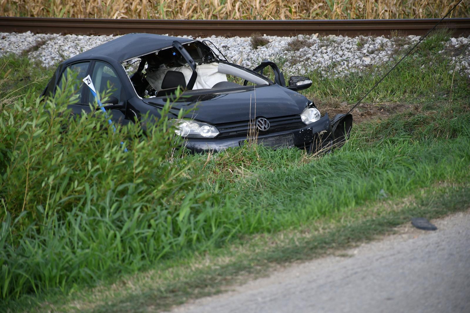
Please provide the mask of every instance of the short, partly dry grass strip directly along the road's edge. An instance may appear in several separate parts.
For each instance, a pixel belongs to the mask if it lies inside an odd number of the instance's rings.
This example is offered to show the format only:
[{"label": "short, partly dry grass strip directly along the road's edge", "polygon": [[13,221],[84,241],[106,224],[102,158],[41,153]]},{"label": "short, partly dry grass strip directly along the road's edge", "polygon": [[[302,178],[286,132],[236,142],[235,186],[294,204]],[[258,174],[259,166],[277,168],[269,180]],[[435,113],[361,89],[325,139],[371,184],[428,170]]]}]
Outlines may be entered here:
[{"label": "short, partly dry grass strip directly along the road's edge", "polygon": [[[163,262],[154,270],[122,277],[112,285],[83,290],[42,303],[34,312],[159,312],[191,298],[268,274],[292,262],[311,260],[393,233],[412,217],[438,218],[470,205],[470,185],[438,183],[405,199],[357,208],[349,214],[284,231],[251,237],[229,247]],[[341,254],[340,254],[341,255]],[[49,299],[50,301],[51,299]]]}]

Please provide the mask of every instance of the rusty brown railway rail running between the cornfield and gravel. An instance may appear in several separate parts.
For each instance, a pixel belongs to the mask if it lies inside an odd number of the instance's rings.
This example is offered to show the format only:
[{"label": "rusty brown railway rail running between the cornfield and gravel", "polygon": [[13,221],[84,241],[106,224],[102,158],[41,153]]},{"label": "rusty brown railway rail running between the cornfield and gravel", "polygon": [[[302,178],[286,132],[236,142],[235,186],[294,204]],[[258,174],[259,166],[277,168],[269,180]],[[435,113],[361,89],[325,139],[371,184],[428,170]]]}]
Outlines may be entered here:
[{"label": "rusty brown railway rail running between the cornfield and gravel", "polygon": [[[131,32],[154,34],[251,36],[254,32],[276,36],[319,33],[322,35],[423,35],[439,19],[392,20],[137,20],[0,17],[0,32],[62,33],[76,35],[122,35]],[[448,18],[439,28],[449,28],[454,36],[470,35],[470,18]]]}]

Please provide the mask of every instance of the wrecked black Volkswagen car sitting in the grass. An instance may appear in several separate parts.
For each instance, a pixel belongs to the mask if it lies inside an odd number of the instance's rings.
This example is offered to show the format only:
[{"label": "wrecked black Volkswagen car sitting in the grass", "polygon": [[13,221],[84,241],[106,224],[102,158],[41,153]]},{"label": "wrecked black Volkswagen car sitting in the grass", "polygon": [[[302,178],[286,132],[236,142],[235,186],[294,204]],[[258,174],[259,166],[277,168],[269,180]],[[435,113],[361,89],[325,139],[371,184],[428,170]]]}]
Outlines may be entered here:
[{"label": "wrecked black Volkswagen car sitting in the grass", "polygon": [[[297,92],[312,85],[307,77],[292,76],[286,84],[273,62],[247,69],[224,59],[209,41],[128,34],[63,61],[43,95],[54,94],[70,69],[80,80],[91,79],[96,94],[112,86],[102,105],[117,123],[139,122],[147,113],[158,118],[170,99],[176,132],[194,153],[241,146],[253,133],[259,144],[309,152],[340,145],[349,136],[351,115],[321,116],[313,101]],[[263,75],[268,69],[274,81]],[[92,111],[95,93],[89,86],[79,87],[78,103],[70,106],[74,114]],[[181,109],[188,113],[177,119]]]}]

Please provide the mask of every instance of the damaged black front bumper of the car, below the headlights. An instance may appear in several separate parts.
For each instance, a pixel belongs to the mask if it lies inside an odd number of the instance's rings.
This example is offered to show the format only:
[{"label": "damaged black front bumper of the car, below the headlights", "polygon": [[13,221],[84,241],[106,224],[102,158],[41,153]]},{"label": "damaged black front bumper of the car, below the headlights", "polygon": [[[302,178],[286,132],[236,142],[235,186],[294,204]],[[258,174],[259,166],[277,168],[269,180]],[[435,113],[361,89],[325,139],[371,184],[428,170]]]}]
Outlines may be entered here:
[{"label": "damaged black front bumper of the car, below the headlights", "polygon": [[[313,122],[309,125],[305,125],[303,128],[296,130],[285,130],[275,133],[263,135],[261,132],[258,133],[258,142],[269,143],[272,137],[289,137],[288,147],[299,147],[308,149],[317,149],[319,145],[323,145],[325,142],[330,141],[332,133],[331,121],[329,120],[328,114],[325,114],[320,120]],[[231,138],[211,138],[211,139],[186,139],[184,144],[187,149],[192,153],[202,152],[219,152],[227,148],[234,148],[243,145],[243,142],[247,140],[247,137],[231,137]],[[314,147],[313,147],[314,145]]]}]

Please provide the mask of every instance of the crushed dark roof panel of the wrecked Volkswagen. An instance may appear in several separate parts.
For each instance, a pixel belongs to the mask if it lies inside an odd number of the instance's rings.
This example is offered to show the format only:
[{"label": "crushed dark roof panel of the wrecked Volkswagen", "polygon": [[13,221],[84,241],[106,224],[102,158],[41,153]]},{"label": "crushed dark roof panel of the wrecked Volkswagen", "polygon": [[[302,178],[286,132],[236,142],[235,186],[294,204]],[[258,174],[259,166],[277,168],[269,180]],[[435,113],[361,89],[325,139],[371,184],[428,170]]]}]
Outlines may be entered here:
[{"label": "crushed dark roof panel of the wrecked Volkswagen", "polygon": [[184,44],[194,39],[171,37],[164,35],[133,33],[108,41],[100,46],[80,53],[73,60],[101,59],[109,57],[122,62],[159,49],[172,46],[174,40]]}]

